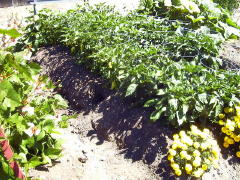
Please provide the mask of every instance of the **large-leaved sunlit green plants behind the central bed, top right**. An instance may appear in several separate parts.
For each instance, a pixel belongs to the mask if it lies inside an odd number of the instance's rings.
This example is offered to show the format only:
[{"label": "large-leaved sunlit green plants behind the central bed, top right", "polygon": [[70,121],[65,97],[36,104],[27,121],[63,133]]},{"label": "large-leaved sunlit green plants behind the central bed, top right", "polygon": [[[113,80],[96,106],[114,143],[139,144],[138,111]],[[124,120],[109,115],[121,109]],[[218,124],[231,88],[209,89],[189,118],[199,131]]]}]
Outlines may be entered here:
[{"label": "large-leaved sunlit green plants behind the central bed, top right", "polygon": [[226,39],[240,37],[239,27],[229,12],[211,0],[142,0],[139,12],[185,21],[189,29],[207,26]]}]

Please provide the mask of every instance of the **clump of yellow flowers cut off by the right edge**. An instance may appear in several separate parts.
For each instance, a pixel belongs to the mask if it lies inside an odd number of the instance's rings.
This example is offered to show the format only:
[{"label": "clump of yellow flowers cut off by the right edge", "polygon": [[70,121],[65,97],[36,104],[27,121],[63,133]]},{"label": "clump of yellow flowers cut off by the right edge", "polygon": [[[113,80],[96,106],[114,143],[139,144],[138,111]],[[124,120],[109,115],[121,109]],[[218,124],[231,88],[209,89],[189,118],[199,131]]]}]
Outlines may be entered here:
[{"label": "clump of yellow flowers cut off by the right edge", "polygon": [[[223,146],[229,146],[240,142],[240,106],[235,108],[225,107],[224,113],[218,115],[218,124],[223,126],[221,131],[226,134]],[[240,146],[238,147],[240,150]],[[236,156],[240,158],[240,151],[236,152]]]}]

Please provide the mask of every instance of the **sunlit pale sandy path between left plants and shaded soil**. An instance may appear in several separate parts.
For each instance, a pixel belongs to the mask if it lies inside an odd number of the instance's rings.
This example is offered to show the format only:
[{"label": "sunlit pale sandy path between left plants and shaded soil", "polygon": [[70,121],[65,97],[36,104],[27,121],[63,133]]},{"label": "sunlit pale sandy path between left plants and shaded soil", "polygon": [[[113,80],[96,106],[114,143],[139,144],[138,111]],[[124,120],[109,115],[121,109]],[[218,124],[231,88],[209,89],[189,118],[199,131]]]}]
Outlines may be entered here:
[{"label": "sunlit pale sandy path between left plants and shaded soil", "polygon": [[[90,121],[100,116],[97,113],[80,114],[72,120],[72,126],[62,131],[63,157],[53,166],[31,170],[30,177],[42,180],[155,180],[157,175],[142,162],[132,162],[120,154],[113,142],[102,141],[91,128]],[[79,134],[74,123],[81,123]]]}]

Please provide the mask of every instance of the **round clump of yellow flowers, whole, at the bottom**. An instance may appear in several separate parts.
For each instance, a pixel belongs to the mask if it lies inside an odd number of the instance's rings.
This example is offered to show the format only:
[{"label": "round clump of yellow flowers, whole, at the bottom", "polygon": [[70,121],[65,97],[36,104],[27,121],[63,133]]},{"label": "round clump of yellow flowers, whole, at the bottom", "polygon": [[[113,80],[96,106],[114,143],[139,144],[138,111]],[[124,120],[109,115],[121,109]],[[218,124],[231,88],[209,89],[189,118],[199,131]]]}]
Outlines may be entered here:
[{"label": "round clump of yellow flowers, whole, at the bottom", "polygon": [[201,177],[211,166],[218,166],[219,147],[208,129],[201,131],[192,125],[191,131],[180,131],[173,139],[168,160],[177,176]]}]

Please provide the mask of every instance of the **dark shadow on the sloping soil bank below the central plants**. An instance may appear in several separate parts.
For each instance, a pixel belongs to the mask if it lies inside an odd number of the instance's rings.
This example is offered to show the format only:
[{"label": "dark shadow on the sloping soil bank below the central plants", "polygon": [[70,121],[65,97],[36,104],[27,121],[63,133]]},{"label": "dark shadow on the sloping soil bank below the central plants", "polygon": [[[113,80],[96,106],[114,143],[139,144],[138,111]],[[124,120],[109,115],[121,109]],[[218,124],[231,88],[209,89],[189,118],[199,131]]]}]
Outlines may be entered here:
[{"label": "dark shadow on the sloping soil bank below the central plants", "polygon": [[57,90],[74,109],[98,114],[91,119],[94,130],[88,136],[101,136],[99,145],[104,140],[116,141],[126,158],[133,162],[143,160],[160,179],[175,179],[166,159],[172,128],[149,123],[148,109],[131,107],[129,100],[103,88],[106,82],[77,65],[62,47],[42,48],[32,60],[42,66],[43,74],[61,85]]}]

